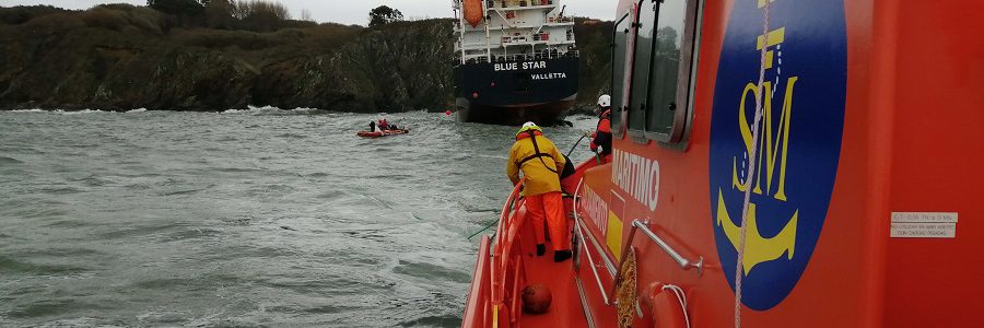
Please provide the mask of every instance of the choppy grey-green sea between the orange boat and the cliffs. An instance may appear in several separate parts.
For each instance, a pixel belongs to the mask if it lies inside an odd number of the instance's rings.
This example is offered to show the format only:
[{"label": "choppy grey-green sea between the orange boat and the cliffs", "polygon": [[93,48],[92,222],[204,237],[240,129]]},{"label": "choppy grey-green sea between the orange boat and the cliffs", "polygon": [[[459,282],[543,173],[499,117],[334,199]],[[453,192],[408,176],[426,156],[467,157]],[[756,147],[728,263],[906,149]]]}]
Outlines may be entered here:
[{"label": "choppy grey-green sea between the orange boat and the cliffs", "polygon": [[443,113],[0,113],[0,327],[454,326],[511,190],[515,128]]}]

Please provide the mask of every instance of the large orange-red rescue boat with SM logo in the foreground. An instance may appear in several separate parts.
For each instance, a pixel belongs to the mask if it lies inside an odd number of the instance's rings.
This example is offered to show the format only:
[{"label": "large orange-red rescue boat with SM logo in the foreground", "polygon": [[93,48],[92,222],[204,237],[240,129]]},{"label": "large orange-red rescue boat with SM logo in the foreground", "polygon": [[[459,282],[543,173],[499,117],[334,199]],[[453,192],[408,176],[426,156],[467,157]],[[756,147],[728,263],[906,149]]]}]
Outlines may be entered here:
[{"label": "large orange-red rescue boat with SM logo in the foreground", "polygon": [[574,260],[517,188],[462,327],[984,327],[980,1],[617,8]]}]

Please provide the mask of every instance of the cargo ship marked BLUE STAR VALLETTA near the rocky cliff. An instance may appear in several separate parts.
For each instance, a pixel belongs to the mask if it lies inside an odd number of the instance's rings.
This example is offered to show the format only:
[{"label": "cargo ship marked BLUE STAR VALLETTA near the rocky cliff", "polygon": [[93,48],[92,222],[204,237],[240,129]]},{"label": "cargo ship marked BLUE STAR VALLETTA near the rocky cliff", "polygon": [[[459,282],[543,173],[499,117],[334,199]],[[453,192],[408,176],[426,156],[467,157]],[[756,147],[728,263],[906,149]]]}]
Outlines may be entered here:
[{"label": "cargo ship marked BLUE STAR VALLETTA near the rocky cliff", "polygon": [[455,110],[462,121],[550,126],[577,98],[574,20],[560,0],[455,0]]}]

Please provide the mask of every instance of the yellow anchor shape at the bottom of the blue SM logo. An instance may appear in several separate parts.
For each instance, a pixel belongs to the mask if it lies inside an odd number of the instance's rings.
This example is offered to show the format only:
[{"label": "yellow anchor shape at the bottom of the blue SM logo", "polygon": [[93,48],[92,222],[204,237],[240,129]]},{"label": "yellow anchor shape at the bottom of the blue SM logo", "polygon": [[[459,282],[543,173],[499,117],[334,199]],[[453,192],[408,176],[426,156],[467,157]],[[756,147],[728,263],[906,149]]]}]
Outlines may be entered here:
[{"label": "yellow anchor shape at the bottom of the blue SM logo", "polygon": [[[793,218],[786,223],[786,226],[775,236],[771,238],[763,237],[759,233],[759,225],[755,218],[755,204],[748,204],[748,235],[745,239],[745,276],[751,272],[755,266],[778,259],[786,254],[786,258],[792,260],[793,253],[796,249],[796,224],[799,221],[799,211],[793,213]],[[721,188],[717,189],[717,226],[722,226],[728,241],[738,250],[738,244],[741,242],[741,226],[735,224],[728,215],[728,209],[725,207],[724,196]]]}]

